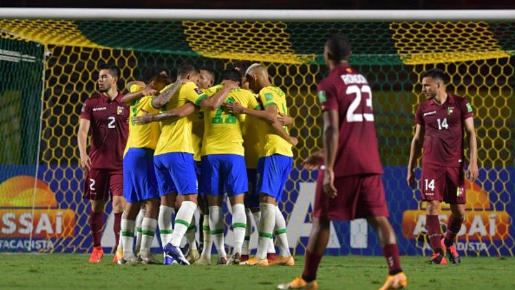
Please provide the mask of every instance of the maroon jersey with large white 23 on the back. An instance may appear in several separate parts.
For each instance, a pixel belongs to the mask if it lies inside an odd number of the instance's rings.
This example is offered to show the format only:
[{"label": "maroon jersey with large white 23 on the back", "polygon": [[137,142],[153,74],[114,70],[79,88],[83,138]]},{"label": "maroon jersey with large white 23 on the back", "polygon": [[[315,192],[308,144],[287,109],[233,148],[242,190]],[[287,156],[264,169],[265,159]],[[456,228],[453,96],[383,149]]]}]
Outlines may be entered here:
[{"label": "maroon jersey with large white 23 on the back", "polygon": [[334,176],[382,174],[372,93],[365,77],[347,64],[341,64],[320,82],[318,95],[322,111],[336,110],[339,113]]}]

